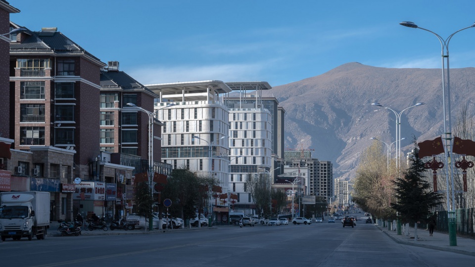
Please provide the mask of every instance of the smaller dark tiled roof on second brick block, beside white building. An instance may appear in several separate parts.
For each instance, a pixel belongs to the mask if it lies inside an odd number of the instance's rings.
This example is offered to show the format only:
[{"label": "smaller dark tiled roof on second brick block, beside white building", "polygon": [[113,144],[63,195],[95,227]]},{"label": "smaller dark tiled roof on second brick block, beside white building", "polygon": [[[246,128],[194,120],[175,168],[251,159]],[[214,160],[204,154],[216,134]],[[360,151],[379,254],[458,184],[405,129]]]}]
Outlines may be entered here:
[{"label": "smaller dark tiled roof on second brick block, beside white building", "polygon": [[123,71],[100,71],[100,86],[104,89],[146,90],[153,93]]}]

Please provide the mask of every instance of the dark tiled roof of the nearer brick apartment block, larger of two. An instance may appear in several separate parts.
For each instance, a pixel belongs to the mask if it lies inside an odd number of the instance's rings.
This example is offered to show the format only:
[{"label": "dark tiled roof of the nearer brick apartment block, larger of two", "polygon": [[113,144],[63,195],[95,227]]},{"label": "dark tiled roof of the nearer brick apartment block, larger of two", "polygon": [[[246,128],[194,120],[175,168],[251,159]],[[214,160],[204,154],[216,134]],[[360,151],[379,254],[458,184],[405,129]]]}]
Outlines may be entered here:
[{"label": "dark tiled roof of the nearer brick apartment block, larger of two", "polygon": [[85,54],[97,61],[100,61],[93,54],[86,51],[83,47],[77,45],[71,39],[67,38],[61,32],[56,31],[27,31],[29,36],[23,42],[11,42],[10,52],[24,53],[56,53],[56,54]]}]

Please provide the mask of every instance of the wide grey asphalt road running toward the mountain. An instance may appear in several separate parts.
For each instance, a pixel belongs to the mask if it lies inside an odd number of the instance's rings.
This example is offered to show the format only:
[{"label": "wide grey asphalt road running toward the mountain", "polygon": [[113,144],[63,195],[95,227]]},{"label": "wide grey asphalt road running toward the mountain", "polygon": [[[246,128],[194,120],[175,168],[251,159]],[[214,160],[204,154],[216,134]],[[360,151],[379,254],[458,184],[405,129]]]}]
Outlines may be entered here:
[{"label": "wide grey asphalt road running toward the mountain", "polygon": [[475,257],[401,245],[373,224],[217,226],[159,234],[66,236],[0,243],[2,266],[437,267]]}]

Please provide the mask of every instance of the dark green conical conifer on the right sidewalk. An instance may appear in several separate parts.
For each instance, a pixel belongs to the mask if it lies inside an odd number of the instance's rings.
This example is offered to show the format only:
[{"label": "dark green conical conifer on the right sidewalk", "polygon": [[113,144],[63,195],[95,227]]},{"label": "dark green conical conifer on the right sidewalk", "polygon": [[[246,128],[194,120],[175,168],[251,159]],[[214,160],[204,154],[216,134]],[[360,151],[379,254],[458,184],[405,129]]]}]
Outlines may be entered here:
[{"label": "dark green conical conifer on the right sidewalk", "polygon": [[403,177],[394,181],[395,198],[397,203],[391,206],[399,212],[399,219],[405,223],[415,223],[415,238],[417,239],[417,222],[426,220],[430,208],[442,203],[442,196],[431,190],[431,185],[424,176],[424,162],[419,159],[419,148],[414,139],[414,153],[410,159],[411,165]]}]

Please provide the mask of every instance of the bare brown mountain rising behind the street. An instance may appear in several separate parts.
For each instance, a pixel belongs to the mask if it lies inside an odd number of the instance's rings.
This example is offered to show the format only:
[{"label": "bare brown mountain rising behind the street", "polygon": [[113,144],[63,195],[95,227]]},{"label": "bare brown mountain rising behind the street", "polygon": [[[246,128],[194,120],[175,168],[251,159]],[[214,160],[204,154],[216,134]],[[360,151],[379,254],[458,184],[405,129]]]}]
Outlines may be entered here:
[{"label": "bare brown mountain rising behind the street", "polygon": [[[475,68],[450,69],[452,127],[463,103],[469,116],[475,111]],[[390,144],[395,141],[396,115],[371,103],[379,102],[397,113],[418,102],[401,116],[403,153],[418,142],[443,134],[441,69],[392,69],[341,65],[322,75],[276,86],[274,95],[285,108],[285,147],[313,148],[312,156],[330,160],[335,178],[353,178],[358,155],[373,136]],[[383,145],[385,146],[385,145]],[[395,156],[392,145],[392,157]]]}]

